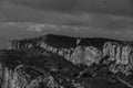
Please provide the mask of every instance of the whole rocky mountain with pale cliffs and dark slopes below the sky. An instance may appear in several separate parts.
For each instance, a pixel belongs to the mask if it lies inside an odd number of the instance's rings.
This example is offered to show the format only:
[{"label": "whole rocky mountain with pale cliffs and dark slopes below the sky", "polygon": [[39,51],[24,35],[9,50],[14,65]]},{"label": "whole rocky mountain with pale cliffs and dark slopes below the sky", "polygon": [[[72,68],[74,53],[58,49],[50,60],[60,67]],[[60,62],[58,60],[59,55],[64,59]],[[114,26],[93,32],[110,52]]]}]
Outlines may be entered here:
[{"label": "whole rocky mountain with pale cliffs and dark slopes below the sky", "polygon": [[42,35],[0,55],[1,88],[133,88],[132,42]]}]

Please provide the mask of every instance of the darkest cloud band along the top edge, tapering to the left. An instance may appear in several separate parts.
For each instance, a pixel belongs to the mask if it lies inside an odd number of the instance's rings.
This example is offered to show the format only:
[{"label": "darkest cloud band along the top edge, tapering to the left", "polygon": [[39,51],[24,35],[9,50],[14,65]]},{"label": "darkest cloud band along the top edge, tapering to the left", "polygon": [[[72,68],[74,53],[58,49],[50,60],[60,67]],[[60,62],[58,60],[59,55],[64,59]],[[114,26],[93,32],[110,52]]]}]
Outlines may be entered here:
[{"label": "darkest cloud band along the top edge, tapering to the left", "polygon": [[119,15],[133,15],[132,0],[9,0],[17,4],[40,10],[61,12],[94,12]]}]

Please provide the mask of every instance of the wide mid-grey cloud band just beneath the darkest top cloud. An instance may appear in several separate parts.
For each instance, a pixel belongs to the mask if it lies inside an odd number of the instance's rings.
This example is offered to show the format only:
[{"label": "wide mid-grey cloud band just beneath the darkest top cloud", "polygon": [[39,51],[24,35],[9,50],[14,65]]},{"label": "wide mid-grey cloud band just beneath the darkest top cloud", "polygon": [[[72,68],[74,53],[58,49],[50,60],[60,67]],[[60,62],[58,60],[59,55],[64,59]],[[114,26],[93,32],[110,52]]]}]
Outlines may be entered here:
[{"label": "wide mid-grey cloud band just beneath the darkest top cloud", "polygon": [[[78,2],[79,3],[79,2]],[[76,6],[80,6],[78,4]],[[95,2],[92,2],[95,3]],[[81,3],[83,4],[83,3]],[[76,11],[76,7],[73,10]],[[85,10],[85,9],[84,9]],[[4,2],[0,8],[0,21],[12,22],[37,22],[48,24],[66,24],[66,25],[85,25],[94,26],[98,29],[106,30],[122,30],[132,29],[133,19],[127,16],[120,16],[106,13],[91,13],[82,12],[79,9],[79,13],[61,13],[59,11],[44,11],[32,9],[29,7],[19,6],[19,3]]]}]

